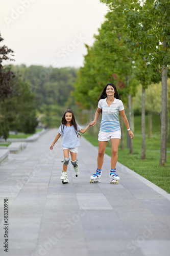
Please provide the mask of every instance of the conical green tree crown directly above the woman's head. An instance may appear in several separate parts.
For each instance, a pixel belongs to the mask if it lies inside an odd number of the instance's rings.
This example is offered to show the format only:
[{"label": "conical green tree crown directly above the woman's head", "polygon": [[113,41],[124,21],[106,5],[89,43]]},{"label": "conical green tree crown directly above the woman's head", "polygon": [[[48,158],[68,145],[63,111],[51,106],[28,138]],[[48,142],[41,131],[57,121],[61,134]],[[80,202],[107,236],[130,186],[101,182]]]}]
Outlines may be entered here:
[{"label": "conical green tree crown directly above the woman's head", "polygon": [[127,93],[135,95],[138,84],[134,75],[134,42],[126,32],[124,4],[120,4],[119,1],[114,1],[114,5],[111,1],[106,2],[110,11],[99,29],[99,35],[94,36],[93,46],[86,46],[84,66],[80,68],[75,83],[76,100],[81,102],[84,108],[96,108],[96,102],[108,82],[116,85],[124,101]]}]

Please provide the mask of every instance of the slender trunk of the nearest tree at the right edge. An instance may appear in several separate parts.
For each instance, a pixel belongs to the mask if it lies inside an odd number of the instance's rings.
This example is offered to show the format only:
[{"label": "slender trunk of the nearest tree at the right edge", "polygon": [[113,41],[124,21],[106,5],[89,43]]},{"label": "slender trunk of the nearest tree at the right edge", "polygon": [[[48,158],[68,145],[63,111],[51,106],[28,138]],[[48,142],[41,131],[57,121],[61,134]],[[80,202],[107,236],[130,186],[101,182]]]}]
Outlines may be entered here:
[{"label": "slender trunk of the nearest tree at the right edge", "polygon": [[161,146],[159,165],[166,161],[166,97],[167,67],[162,66],[162,114],[161,114]]}]

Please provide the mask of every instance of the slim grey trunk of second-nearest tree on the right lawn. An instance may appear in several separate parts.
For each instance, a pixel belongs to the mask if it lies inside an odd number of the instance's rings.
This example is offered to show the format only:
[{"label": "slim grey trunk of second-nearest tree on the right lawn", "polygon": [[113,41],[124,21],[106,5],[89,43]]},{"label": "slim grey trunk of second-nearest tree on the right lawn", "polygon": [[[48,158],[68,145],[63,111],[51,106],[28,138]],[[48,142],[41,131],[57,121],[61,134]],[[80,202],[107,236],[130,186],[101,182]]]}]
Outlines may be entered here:
[{"label": "slim grey trunk of second-nearest tree on the right lawn", "polygon": [[146,159],[146,147],[145,147],[145,89],[142,86],[142,110],[141,110],[141,128],[142,128],[142,147],[141,147],[141,159]]}]

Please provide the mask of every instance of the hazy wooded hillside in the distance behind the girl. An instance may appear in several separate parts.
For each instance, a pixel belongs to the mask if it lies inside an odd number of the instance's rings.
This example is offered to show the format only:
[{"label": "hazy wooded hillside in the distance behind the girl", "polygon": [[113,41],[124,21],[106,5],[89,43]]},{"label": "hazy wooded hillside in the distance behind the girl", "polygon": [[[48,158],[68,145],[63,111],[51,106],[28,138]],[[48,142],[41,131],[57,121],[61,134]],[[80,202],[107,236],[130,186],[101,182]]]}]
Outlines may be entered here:
[{"label": "hazy wooded hillside in the distance behind the girl", "polygon": [[[22,80],[31,83],[35,94],[36,109],[39,121],[47,127],[56,127],[66,109],[78,112],[72,92],[77,77],[77,69],[53,68],[25,65],[13,66],[13,70],[21,75]],[[75,113],[76,114],[76,113]]]}]

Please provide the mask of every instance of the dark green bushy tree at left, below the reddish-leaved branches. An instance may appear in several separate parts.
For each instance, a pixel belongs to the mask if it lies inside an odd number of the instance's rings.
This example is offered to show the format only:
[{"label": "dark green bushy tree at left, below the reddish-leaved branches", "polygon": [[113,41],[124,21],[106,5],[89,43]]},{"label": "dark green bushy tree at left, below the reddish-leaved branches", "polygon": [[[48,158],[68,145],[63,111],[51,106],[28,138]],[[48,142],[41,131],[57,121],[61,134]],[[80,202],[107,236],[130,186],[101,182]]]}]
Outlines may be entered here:
[{"label": "dark green bushy tree at left, below the reddish-leaved branches", "polygon": [[16,75],[10,86],[15,86],[15,95],[8,95],[0,102],[0,123],[2,127],[5,125],[4,138],[9,137],[9,130],[33,133],[37,126],[35,95],[29,82],[23,82]]}]

